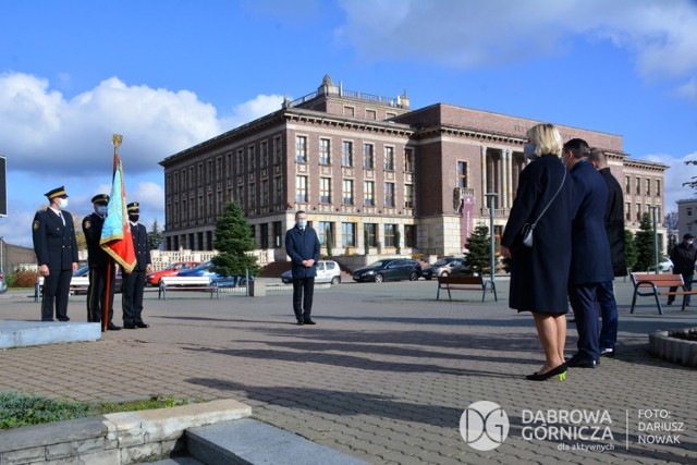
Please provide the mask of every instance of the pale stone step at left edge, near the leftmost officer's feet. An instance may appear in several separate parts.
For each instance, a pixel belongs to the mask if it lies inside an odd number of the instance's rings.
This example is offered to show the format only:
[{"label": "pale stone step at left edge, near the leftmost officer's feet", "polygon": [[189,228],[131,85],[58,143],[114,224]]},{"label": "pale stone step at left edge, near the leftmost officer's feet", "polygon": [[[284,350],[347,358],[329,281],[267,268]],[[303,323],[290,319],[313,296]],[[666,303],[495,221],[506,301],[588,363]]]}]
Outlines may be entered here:
[{"label": "pale stone step at left edge, near the leftmost officer's feet", "polygon": [[101,338],[99,323],[71,321],[0,321],[0,348],[61,342],[97,341]]}]

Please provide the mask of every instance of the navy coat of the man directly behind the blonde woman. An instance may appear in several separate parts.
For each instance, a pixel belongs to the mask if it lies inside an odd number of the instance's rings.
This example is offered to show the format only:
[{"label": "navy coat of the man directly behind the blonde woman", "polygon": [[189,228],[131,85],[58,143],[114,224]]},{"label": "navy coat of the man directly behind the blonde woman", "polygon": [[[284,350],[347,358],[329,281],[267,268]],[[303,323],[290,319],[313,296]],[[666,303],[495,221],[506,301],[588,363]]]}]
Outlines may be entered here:
[{"label": "navy coat of the man directly behind the blonde woman", "polygon": [[592,284],[612,281],[610,242],[606,231],[608,185],[588,160],[571,169],[576,216],[572,222],[572,260],[568,282]]}]

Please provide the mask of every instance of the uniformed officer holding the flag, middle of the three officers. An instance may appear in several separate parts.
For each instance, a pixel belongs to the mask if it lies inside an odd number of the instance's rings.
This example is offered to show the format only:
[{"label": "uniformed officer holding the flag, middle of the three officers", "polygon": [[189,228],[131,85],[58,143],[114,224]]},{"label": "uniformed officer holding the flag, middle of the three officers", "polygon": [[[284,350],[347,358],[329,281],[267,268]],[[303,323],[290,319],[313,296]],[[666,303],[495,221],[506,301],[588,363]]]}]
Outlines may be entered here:
[{"label": "uniformed officer holding the flag, middle of the three officers", "polygon": [[[118,331],[121,328],[115,326],[113,320],[113,293],[115,282],[115,267],[112,258],[99,245],[101,229],[107,217],[107,205],[109,196],[97,194],[91,198],[95,211],[83,219],[83,232],[87,242],[87,262],[89,265],[89,287],[87,289],[87,321],[101,322],[105,314],[105,305],[109,303],[110,331]],[[107,269],[111,267],[111,284],[107,293]],[[108,294],[108,295],[107,295]],[[108,298],[108,301],[107,301]]]}]

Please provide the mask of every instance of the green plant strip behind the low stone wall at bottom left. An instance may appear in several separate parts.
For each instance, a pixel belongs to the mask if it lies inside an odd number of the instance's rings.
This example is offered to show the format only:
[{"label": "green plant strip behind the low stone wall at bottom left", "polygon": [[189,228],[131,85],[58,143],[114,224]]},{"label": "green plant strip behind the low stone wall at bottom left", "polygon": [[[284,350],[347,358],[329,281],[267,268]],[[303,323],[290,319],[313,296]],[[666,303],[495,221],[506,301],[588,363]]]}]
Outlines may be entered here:
[{"label": "green plant strip behind the low stone wall at bottom left", "polygon": [[136,412],[186,405],[188,400],[152,395],[147,400],[130,402],[72,402],[57,401],[40,395],[15,391],[0,392],[0,429],[21,428],[51,421],[84,418],[115,412]]}]

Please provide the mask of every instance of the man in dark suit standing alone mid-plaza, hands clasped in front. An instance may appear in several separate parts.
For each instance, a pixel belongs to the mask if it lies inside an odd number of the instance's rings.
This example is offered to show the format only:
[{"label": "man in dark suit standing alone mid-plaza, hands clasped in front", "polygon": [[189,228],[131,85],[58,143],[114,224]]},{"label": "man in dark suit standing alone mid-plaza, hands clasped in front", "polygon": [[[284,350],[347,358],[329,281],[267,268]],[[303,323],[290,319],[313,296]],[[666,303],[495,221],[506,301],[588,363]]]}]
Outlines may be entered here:
[{"label": "man in dark suit standing alone mid-plaza, hands clasped in front", "polygon": [[315,325],[310,318],[315,277],[319,260],[319,238],[307,225],[307,213],[295,213],[295,227],[285,233],[285,253],[291,257],[293,274],[293,311],[297,325]]}]

